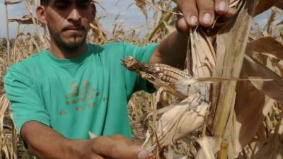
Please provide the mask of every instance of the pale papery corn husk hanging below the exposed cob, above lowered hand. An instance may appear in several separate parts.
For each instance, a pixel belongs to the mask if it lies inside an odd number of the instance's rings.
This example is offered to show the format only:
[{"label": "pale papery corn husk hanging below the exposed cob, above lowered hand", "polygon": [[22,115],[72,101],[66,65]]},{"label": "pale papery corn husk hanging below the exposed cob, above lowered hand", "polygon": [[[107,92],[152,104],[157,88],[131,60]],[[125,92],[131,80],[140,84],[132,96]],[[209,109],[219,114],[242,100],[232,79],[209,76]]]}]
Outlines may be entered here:
[{"label": "pale papery corn husk hanging below the exposed cob, above lowered hand", "polygon": [[161,119],[158,120],[156,125],[158,143],[155,138],[153,141],[146,139],[144,148],[151,152],[157,146],[163,148],[163,146],[168,146],[173,141],[190,134],[202,125],[208,107],[206,102],[200,101],[197,94],[174,105],[170,110],[164,112]]}]

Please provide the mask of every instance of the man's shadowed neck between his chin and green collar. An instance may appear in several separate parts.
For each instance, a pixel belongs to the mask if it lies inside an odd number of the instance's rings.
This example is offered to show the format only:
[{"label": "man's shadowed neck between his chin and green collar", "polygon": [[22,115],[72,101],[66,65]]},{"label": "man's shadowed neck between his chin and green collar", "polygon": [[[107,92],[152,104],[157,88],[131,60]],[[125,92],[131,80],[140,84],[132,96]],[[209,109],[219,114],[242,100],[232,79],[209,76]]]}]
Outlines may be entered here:
[{"label": "man's shadowed neck between his chin and green collar", "polygon": [[79,57],[86,52],[86,49],[86,42],[83,42],[83,44],[79,47],[73,48],[59,47],[54,42],[50,43],[50,52],[58,59],[73,59],[75,57]]}]

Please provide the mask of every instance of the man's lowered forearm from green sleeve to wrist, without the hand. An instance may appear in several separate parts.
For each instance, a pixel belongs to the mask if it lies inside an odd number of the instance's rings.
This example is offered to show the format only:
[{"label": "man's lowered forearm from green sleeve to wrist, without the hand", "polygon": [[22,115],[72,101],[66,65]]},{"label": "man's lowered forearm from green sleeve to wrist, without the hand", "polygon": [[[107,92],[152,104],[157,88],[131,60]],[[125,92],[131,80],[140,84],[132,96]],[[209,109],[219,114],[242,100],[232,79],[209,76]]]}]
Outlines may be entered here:
[{"label": "man's lowered forearm from green sleeve to wrist, without the hand", "polygon": [[71,141],[39,122],[27,122],[21,131],[28,151],[37,158],[76,158],[76,147],[86,141]]}]

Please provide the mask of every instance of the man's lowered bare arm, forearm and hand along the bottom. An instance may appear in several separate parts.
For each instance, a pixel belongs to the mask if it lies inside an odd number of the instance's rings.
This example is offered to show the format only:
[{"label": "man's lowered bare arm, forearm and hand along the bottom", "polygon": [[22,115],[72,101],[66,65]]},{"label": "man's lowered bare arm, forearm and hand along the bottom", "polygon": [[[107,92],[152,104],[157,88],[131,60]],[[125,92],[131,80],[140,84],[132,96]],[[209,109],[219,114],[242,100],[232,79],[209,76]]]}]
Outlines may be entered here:
[{"label": "man's lowered bare arm, forearm and hand along the bottom", "polygon": [[21,135],[28,151],[37,158],[145,159],[149,153],[123,136],[98,136],[91,140],[70,140],[40,122],[27,122]]}]

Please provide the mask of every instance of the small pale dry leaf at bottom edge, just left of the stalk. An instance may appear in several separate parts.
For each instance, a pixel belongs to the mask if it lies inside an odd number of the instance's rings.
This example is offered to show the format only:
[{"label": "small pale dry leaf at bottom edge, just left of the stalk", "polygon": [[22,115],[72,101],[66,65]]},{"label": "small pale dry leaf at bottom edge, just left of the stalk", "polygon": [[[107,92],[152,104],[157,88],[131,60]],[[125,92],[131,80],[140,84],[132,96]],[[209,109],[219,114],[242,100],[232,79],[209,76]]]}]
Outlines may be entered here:
[{"label": "small pale dry leaf at bottom edge, just left of the stalk", "polygon": [[214,159],[214,154],[220,150],[221,140],[204,136],[201,139],[197,139],[197,143],[200,144],[200,150],[197,151],[196,159]]}]

